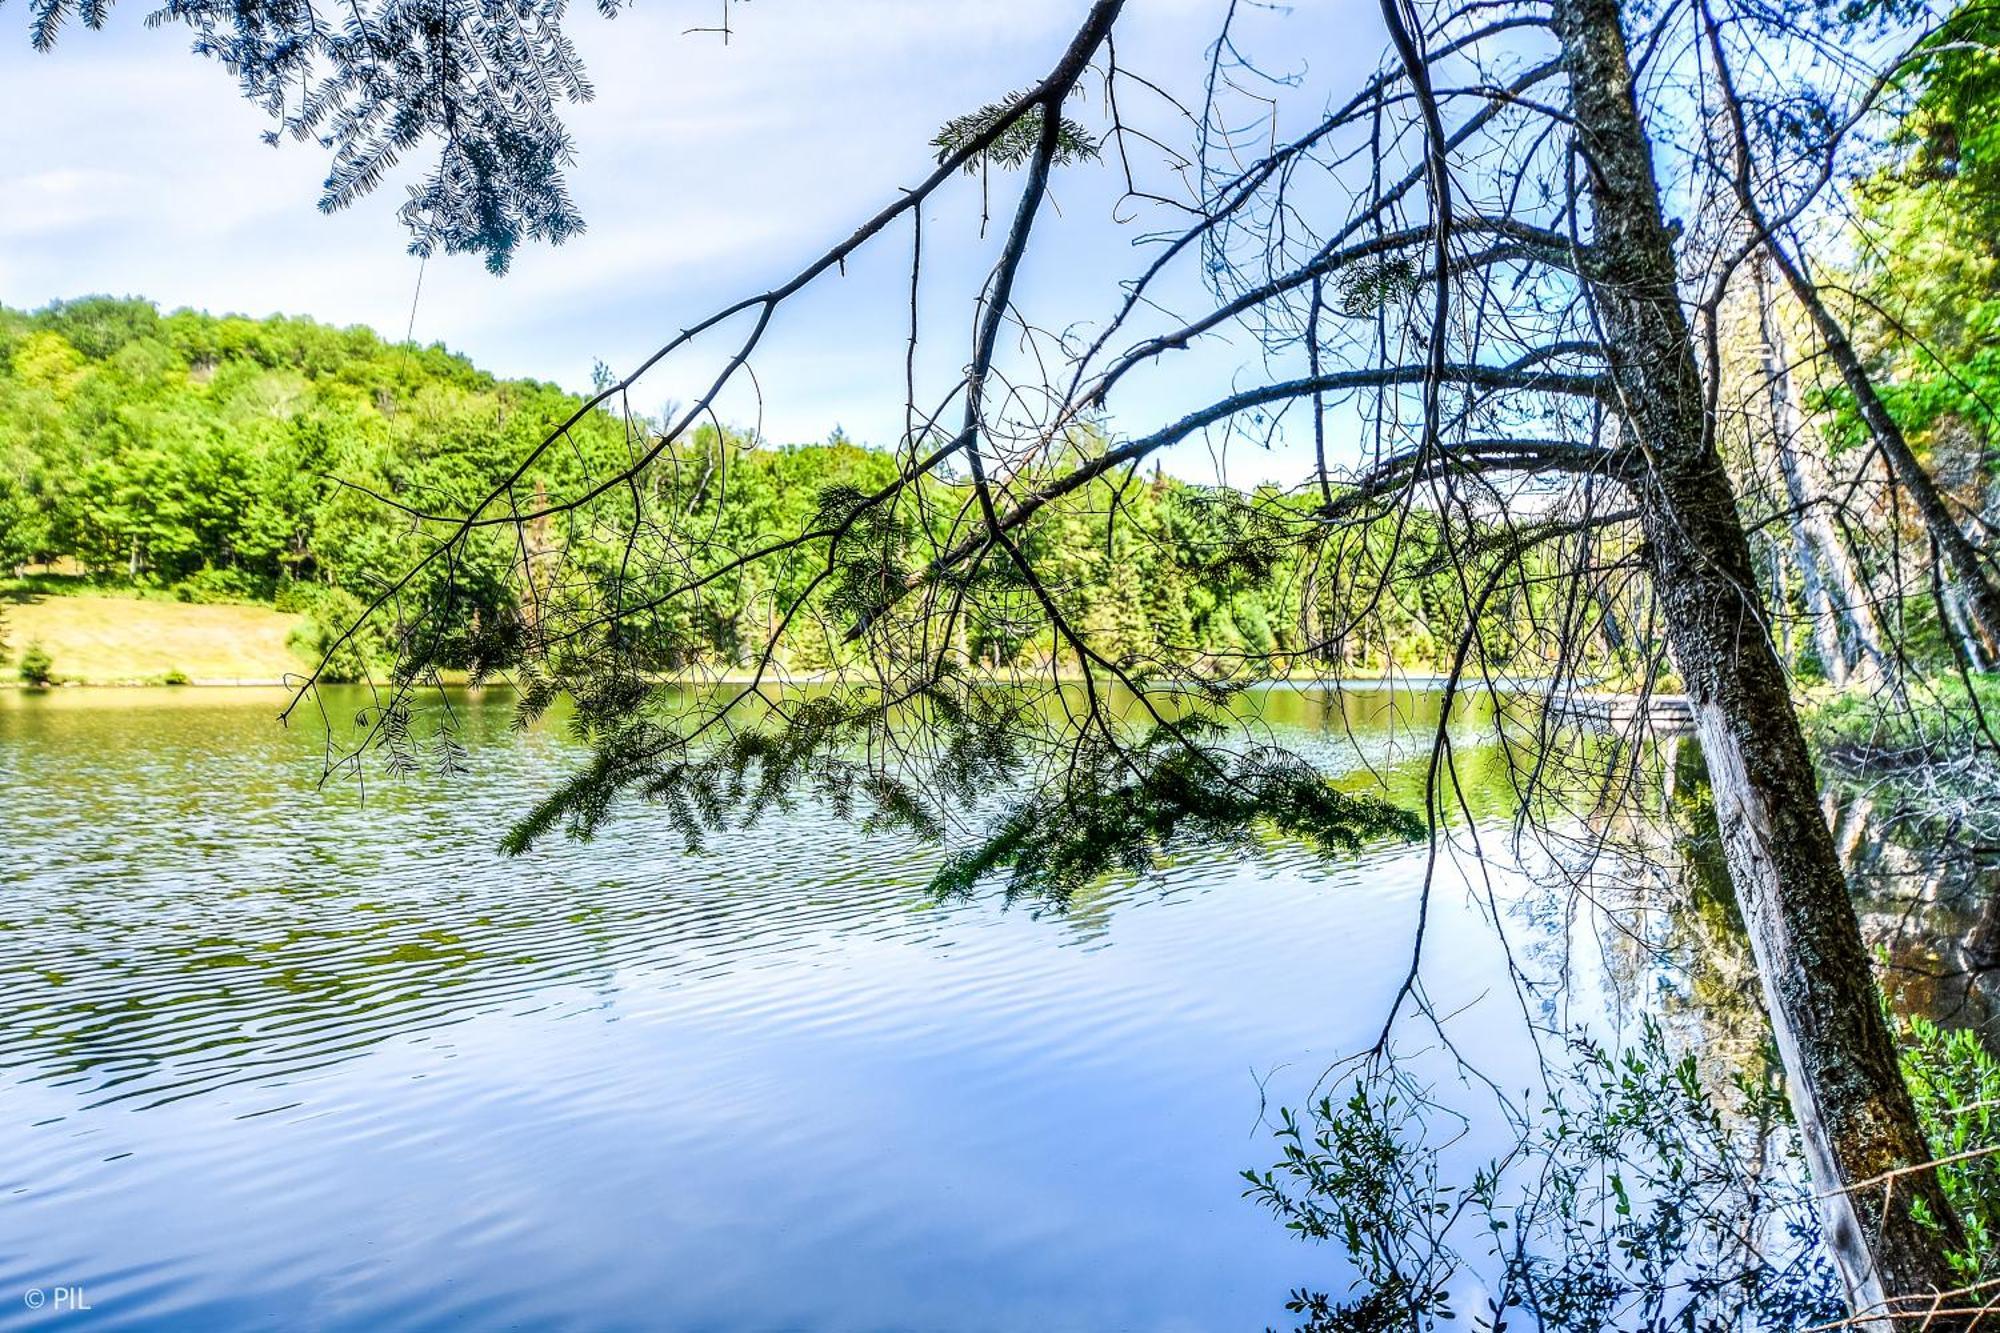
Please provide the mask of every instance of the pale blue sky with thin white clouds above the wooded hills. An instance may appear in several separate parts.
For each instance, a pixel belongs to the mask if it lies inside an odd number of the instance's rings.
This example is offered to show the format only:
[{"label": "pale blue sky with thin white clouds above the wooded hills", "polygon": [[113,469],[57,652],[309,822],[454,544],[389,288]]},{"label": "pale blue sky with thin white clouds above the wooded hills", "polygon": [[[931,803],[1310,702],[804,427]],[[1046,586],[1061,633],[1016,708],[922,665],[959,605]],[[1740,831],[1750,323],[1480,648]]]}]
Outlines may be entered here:
[{"label": "pale blue sky with thin white clouds above the wooded hills", "polygon": [[[1120,60],[1198,100],[1228,0],[1134,0]],[[146,0],[104,32],[64,30],[50,54],[26,40],[26,10],[0,8],[0,302],[32,308],[88,292],[162,308],[310,314],[444,342],[504,376],[588,388],[592,366],[638,364],[674,330],[796,272],[932,166],[950,116],[1034,82],[1084,0],[754,0],[712,32],[720,0],[638,0],[616,20],[578,4],[570,32],[598,96],[566,120],[580,148],[570,186],[588,232],[526,246],[504,278],[478,256],[406,254],[398,180],[324,216],[326,154],[266,146],[266,116],[220,66],[188,54],[180,28],[144,26]],[[1352,86],[1380,50],[1360,0],[1248,6],[1244,32],[1320,86]],[[0,30],[4,30],[0,28]],[[1314,64],[1318,62],[1318,64]],[[1332,66],[1334,78],[1328,80]],[[1162,116],[1164,108],[1154,108]],[[992,202],[1010,206],[1010,178]],[[1150,218],[1118,206],[1110,164],[1058,176],[1058,212],[1022,276],[1022,300],[1052,324],[1096,314],[1136,266]],[[924,380],[948,384],[966,356],[972,294],[994,254],[980,236],[980,182],[926,212]],[[724,402],[732,424],[776,440],[834,426],[888,444],[902,426],[908,230],[884,234],[848,272],[782,312],[754,370],[758,394]],[[1192,284],[1170,292],[1198,308]],[[940,336],[956,334],[956,336]],[[1146,428],[1192,406],[1250,356],[1206,348],[1134,386],[1118,424]],[[634,406],[698,392],[718,362],[676,358]],[[920,390],[920,398],[924,392]],[[1172,470],[1212,470],[1198,444]],[[1248,468],[1248,472],[1244,470]],[[1234,480],[1286,476],[1296,458],[1232,464]]]}]

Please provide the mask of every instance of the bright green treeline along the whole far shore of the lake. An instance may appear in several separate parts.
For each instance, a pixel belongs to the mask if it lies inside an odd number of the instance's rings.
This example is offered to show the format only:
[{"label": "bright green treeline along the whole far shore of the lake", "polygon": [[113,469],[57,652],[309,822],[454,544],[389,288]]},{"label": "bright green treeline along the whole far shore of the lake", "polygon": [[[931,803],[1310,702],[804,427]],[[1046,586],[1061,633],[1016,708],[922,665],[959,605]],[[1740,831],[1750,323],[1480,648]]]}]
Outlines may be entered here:
[{"label": "bright green treeline along the whole far shore of the lake", "polygon": [[[190,600],[274,602],[312,614],[324,642],[422,554],[426,526],[412,510],[454,514],[476,502],[580,404],[554,384],[500,380],[442,346],[392,344],[366,328],[160,314],[102,296],[0,308],[0,566],[78,568],[102,584]],[[586,490],[630,458],[634,438],[620,416],[586,414],[516,484],[514,508]],[[1070,446],[1102,442],[1084,432]],[[694,550],[696,566],[716,568],[810,528],[830,496],[894,474],[892,454],[838,432],[824,444],[768,446],[702,426],[646,476],[650,508],[678,514],[682,530],[642,532],[640,544]],[[926,482],[928,500],[898,510],[890,562],[916,566],[952,540],[962,490]],[[532,622],[542,600],[562,596],[534,584],[542,564],[560,564],[564,580],[656,568],[658,550],[640,550],[638,562],[626,552],[618,502],[526,530],[494,526],[404,596],[448,596],[470,632]],[[1112,474],[1060,500],[1060,522],[1032,526],[1026,540],[1052,594],[1108,652],[1224,669],[1270,652],[1338,656],[1352,669],[1444,662],[1452,644],[1432,626],[1462,624],[1462,580],[1428,566],[1424,516],[1318,546],[1274,530],[1288,512],[1312,524],[1308,508],[1310,498],[1252,506],[1230,488]],[[1396,578],[1378,576],[1384,562],[1398,566]],[[824,544],[808,544],[776,576],[756,562],[650,606],[642,628],[668,669],[750,660],[824,564]],[[1010,630],[1006,606],[1024,590],[1004,584],[1002,572],[968,590],[974,606],[952,650],[998,664],[1060,654],[1046,630]],[[1354,614],[1362,608],[1348,604],[1350,590],[1374,598],[1368,614]],[[804,620],[820,630],[792,636],[780,664],[816,669],[846,650],[836,600],[838,580],[808,598]],[[1534,580],[1502,588],[1486,610],[1502,628],[1494,642],[1508,640],[1506,626],[1532,638],[1540,600]],[[1366,630],[1340,632],[1348,620]],[[390,624],[394,614],[360,652],[342,654],[342,669],[384,656]],[[1618,636],[1616,616],[1604,632]]]}]

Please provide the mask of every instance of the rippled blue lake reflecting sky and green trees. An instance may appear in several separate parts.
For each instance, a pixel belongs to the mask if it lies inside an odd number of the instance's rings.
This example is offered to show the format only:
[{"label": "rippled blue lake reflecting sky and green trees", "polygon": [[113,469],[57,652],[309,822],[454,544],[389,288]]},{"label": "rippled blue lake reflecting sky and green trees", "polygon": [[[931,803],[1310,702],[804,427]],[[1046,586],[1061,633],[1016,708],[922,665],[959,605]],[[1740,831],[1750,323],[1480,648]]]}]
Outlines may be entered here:
[{"label": "rippled blue lake reflecting sky and green trees", "polygon": [[[810,809],[508,861],[576,751],[462,703],[466,777],[360,793],[276,693],[0,695],[0,1327],[1258,1329],[1342,1285],[1238,1171],[1374,1041],[1422,849],[1062,915]],[[1434,705],[1272,717],[1408,783]],[[1440,883],[1426,987],[1504,1071],[1486,893]]]}]

